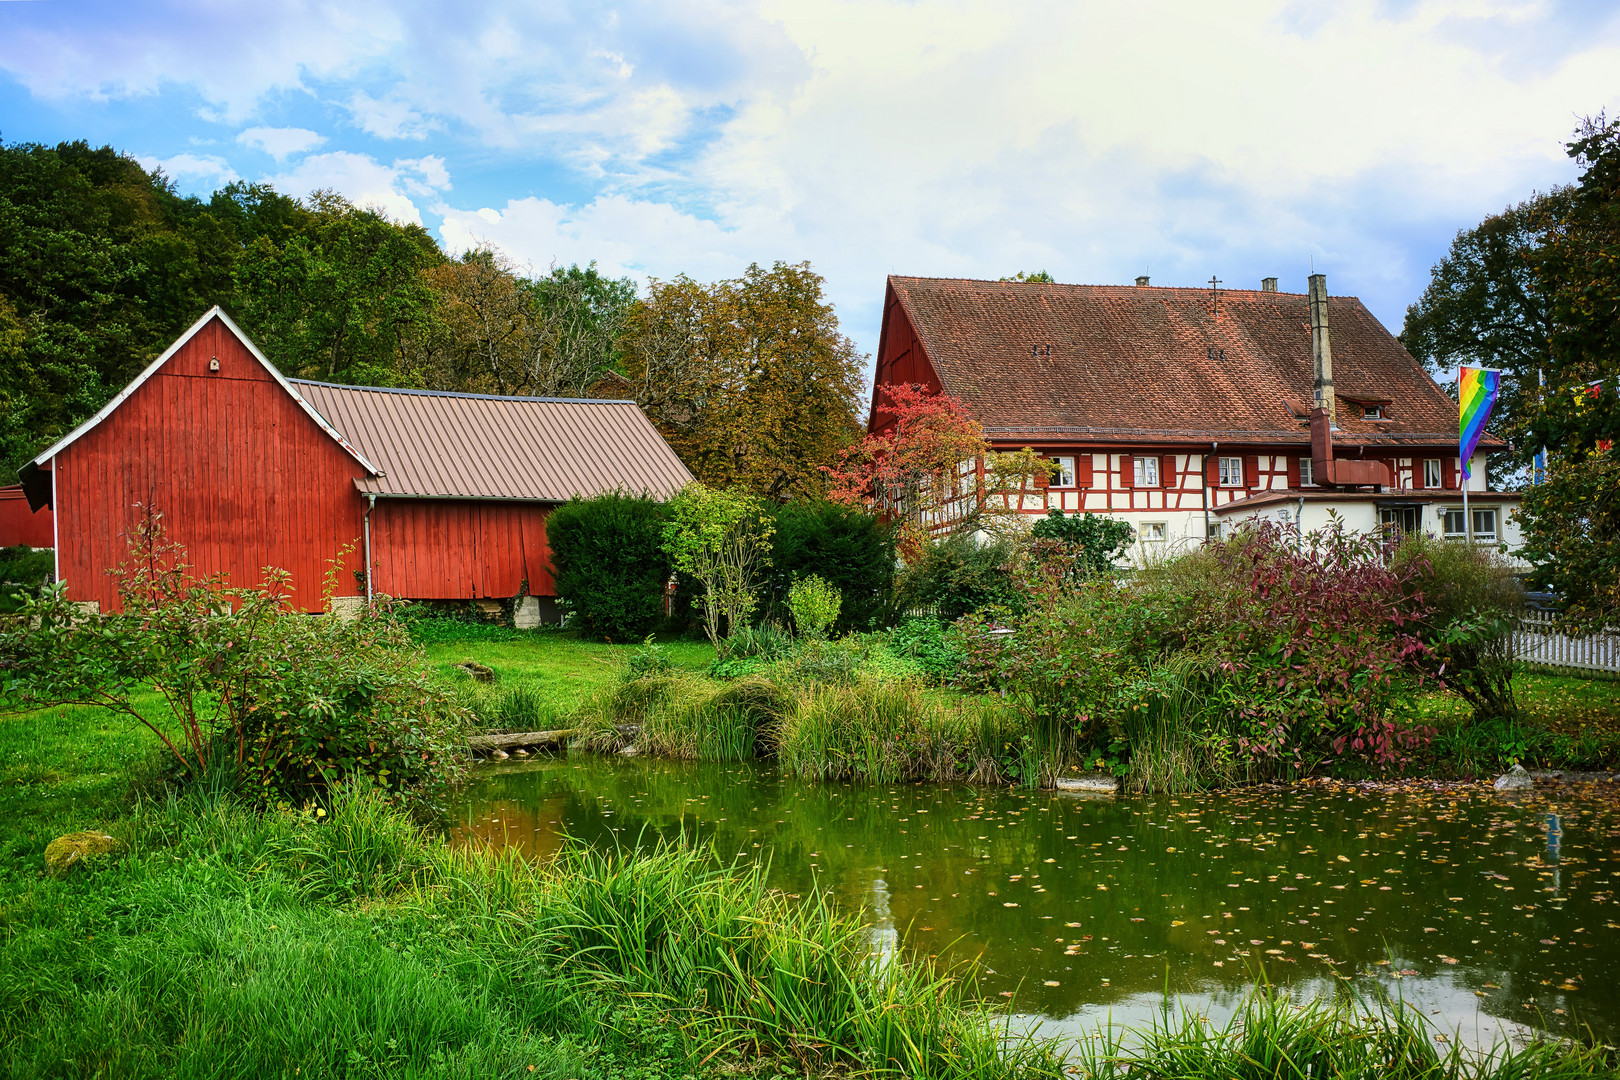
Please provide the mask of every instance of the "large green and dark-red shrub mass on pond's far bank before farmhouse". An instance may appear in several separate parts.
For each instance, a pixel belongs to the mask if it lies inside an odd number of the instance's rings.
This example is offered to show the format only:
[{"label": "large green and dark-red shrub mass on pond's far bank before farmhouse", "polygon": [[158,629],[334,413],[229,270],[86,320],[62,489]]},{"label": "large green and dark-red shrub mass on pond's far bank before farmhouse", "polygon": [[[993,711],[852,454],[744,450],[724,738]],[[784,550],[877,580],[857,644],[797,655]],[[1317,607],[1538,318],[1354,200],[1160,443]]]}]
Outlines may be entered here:
[{"label": "large green and dark-red shrub mass on pond's far bank before farmhouse", "polygon": [[1413,572],[1379,539],[1262,523],[1079,588],[1017,565],[1030,609],[1011,633],[966,620],[964,674],[1024,709],[1053,766],[1184,790],[1335,756],[1395,769],[1432,735],[1392,716],[1396,677],[1427,649]]}]

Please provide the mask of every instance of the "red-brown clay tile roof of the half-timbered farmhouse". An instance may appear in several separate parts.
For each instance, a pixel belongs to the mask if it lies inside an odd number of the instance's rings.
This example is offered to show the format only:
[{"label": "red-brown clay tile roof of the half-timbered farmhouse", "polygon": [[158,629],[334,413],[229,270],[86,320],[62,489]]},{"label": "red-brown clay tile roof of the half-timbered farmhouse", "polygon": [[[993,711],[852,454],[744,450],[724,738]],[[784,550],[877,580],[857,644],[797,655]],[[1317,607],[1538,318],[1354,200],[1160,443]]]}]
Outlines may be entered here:
[{"label": "red-brown clay tile roof of the half-timbered farmhouse", "polygon": [[[1312,398],[1304,293],[1223,288],[1217,313],[1209,288],[889,287],[946,392],[993,439],[1309,442],[1293,411]],[[1338,440],[1456,442],[1456,403],[1359,300],[1328,300],[1328,334]],[[1388,403],[1388,419],[1362,419],[1361,403]]]}]

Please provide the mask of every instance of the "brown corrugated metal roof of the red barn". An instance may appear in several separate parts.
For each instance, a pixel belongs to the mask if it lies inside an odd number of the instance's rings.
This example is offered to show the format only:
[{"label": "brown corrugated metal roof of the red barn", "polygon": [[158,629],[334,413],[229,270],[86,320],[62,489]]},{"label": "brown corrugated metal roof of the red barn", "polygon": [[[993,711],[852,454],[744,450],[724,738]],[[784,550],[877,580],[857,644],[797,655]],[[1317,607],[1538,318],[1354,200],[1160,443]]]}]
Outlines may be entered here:
[{"label": "brown corrugated metal roof of the red barn", "polygon": [[288,382],[382,470],[355,481],[379,497],[564,502],[692,483],[635,402]]}]

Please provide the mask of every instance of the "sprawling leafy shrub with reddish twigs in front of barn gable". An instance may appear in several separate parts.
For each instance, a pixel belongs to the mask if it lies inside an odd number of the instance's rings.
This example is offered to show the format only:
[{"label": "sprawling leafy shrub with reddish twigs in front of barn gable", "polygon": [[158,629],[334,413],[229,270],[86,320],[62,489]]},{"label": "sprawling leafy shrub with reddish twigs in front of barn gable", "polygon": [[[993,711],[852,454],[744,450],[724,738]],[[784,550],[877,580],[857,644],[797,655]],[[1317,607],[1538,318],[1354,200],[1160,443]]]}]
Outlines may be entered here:
[{"label": "sprawling leafy shrub with reddish twigs in front of barn gable", "polygon": [[[426,808],[457,779],[468,716],[386,607],[348,622],[300,615],[282,572],[259,589],[196,578],[156,512],[130,555],[122,612],[83,612],[50,586],[0,623],[6,703],[107,708],[147,727],[193,780],[261,800],[368,784]],[[167,721],[136,708],[144,687]]]}]

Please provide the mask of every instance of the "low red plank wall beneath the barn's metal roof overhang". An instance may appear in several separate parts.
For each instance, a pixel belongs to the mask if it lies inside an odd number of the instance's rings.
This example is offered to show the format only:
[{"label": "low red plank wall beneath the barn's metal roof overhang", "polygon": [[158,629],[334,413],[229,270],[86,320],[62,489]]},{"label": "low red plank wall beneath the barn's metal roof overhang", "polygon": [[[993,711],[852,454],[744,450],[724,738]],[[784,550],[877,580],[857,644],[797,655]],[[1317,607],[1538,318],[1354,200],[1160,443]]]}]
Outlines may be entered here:
[{"label": "low red plank wall beneath the barn's metal roof overhang", "polygon": [[371,512],[376,588],[420,601],[554,596],[549,504],[377,499]]}]

